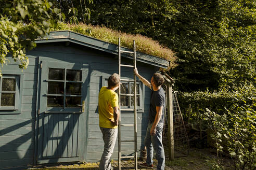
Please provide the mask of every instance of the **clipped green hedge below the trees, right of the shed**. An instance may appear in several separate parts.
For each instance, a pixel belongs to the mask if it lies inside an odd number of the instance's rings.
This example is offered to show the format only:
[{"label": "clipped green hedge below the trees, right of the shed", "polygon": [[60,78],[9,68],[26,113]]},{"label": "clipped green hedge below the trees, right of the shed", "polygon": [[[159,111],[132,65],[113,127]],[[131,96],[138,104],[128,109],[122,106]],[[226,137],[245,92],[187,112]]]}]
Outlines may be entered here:
[{"label": "clipped green hedge below the trees, right of the shed", "polygon": [[251,104],[251,100],[248,97],[255,96],[256,88],[253,84],[245,84],[244,87],[237,88],[235,91],[221,90],[219,92],[210,91],[197,91],[197,92],[180,92],[178,93],[178,103],[181,107],[181,111],[184,116],[184,120],[187,120],[187,112],[189,104],[191,104],[190,121],[196,120],[197,106],[199,105],[199,114],[204,115],[206,108],[211,111],[217,112],[222,115],[226,113],[226,109],[233,107],[234,104],[246,101],[247,104]]}]

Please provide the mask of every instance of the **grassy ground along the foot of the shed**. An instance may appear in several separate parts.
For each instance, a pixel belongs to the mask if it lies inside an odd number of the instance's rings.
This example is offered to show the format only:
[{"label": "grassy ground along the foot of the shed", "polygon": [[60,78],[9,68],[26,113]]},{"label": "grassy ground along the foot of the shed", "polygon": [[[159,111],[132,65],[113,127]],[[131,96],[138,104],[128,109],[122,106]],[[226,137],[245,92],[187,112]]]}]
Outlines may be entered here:
[{"label": "grassy ground along the foot of the shed", "polygon": [[[197,149],[191,148],[189,150],[189,155],[187,157],[180,157],[175,158],[173,161],[169,161],[166,159],[165,165],[168,167],[165,169],[171,170],[211,170],[213,169],[212,165],[217,160],[216,154],[213,152],[213,149],[204,148],[204,149]],[[229,158],[223,158],[225,162],[225,169],[231,170],[231,160]],[[133,161],[122,161],[123,167],[125,169],[133,169]],[[142,162],[139,162],[142,163]],[[157,161],[155,160],[155,166]],[[112,161],[112,165],[117,168],[117,161]],[[60,169],[79,169],[79,170],[96,170],[99,169],[99,163],[80,163],[80,164],[72,164],[72,165],[59,165],[59,166],[45,166],[45,167],[37,167],[31,169],[37,170],[60,170]]]}]

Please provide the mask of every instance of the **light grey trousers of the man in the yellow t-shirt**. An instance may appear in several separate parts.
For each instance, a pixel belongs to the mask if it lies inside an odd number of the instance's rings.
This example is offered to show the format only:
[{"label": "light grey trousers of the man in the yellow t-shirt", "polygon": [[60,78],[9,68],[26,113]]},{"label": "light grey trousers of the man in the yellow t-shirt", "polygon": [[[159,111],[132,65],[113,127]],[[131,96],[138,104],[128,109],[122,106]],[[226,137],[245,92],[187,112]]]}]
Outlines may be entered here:
[{"label": "light grey trousers of the man in the yellow t-shirt", "polygon": [[118,129],[100,127],[100,130],[103,134],[104,151],[99,163],[99,169],[111,170],[112,166],[110,163],[110,158],[114,150],[114,145],[116,144]]}]

